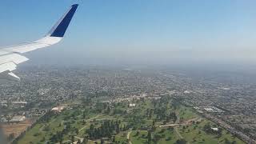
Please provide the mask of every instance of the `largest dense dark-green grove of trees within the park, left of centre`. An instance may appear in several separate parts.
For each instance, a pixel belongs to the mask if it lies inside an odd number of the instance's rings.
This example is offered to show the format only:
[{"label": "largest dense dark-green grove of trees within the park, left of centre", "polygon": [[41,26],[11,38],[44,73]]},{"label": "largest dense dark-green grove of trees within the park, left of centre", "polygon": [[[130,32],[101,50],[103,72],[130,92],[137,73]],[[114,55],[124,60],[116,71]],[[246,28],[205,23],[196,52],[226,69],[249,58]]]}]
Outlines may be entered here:
[{"label": "largest dense dark-green grove of trees within the park, left of centre", "polygon": [[89,138],[111,138],[114,133],[119,133],[122,130],[127,130],[126,126],[121,127],[121,121],[106,120],[102,123],[102,126],[96,128],[94,125],[90,125],[90,129],[87,130]]}]

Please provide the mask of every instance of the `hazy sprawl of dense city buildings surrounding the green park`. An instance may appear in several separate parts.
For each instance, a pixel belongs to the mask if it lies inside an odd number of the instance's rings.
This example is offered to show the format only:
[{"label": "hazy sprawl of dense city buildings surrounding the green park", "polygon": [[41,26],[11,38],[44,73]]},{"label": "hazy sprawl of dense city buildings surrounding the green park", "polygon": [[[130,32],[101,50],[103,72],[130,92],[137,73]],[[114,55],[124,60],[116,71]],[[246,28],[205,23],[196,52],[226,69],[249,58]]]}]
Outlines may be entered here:
[{"label": "hazy sprawl of dense city buildings surrounding the green park", "polygon": [[211,114],[235,130],[250,128],[247,134],[256,137],[256,82],[244,82],[244,76],[92,67],[31,67],[19,75],[21,82],[0,82],[2,108],[21,108],[5,111],[12,115],[20,111],[26,117],[40,115],[59,102],[85,97],[114,102],[171,96],[182,98],[199,113]]}]

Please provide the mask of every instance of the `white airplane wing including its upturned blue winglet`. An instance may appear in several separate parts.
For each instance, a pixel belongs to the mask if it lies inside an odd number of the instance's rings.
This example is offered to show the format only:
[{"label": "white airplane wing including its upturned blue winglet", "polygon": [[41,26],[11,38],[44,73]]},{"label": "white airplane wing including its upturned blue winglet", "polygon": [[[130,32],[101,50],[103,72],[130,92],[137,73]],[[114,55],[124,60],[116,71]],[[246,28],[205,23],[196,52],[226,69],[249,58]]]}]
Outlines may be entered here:
[{"label": "white airplane wing including its upturned blue winglet", "polygon": [[0,77],[19,80],[20,78],[12,71],[16,70],[18,64],[29,60],[29,58],[22,56],[22,54],[60,42],[77,8],[78,4],[72,5],[45,37],[34,42],[17,46],[7,46],[0,49]]}]

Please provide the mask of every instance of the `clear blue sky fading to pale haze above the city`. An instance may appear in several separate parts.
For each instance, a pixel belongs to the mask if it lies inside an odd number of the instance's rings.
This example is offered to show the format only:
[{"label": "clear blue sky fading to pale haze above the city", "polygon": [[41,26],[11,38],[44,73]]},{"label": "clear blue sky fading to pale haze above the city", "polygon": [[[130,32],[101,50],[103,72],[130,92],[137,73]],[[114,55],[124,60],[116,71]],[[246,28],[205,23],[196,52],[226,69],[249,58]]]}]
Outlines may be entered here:
[{"label": "clear blue sky fading to pale haze above the city", "polygon": [[74,3],[66,38],[30,62],[256,62],[253,0],[2,0],[0,45],[41,38]]}]

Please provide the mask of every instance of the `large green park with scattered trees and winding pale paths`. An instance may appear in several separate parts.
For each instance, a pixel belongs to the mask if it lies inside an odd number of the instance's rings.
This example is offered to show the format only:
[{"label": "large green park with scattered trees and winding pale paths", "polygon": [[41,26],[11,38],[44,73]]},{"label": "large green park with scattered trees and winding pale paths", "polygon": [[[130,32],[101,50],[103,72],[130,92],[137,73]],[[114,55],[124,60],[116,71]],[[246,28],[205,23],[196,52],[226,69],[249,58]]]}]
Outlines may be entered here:
[{"label": "large green park with scattered trees and winding pale paths", "polygon": [[70,105],[59,114],[46,115],[18,143],[67,143],[85,139],[88,143],[167,144],[182,138],[189,143],[244,143],[226,130],[221,135],[206,134],[204,126],[216,126],[214,122],[171,98],[134,100],[134,107],[129,107],[129,103]]}]

